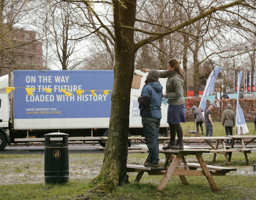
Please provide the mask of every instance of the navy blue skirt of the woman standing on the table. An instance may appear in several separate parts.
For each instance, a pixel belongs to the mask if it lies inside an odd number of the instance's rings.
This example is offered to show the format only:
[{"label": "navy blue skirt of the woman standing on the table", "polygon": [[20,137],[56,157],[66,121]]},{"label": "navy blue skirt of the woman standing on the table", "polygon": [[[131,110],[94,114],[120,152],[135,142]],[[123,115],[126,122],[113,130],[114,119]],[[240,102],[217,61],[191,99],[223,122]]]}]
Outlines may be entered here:
[{"label": "navy blue skirt of the woman standing on the table", "polygon": [[185,103],[179,106],[169,105],[167,110],[167,123],[185,123]]}]

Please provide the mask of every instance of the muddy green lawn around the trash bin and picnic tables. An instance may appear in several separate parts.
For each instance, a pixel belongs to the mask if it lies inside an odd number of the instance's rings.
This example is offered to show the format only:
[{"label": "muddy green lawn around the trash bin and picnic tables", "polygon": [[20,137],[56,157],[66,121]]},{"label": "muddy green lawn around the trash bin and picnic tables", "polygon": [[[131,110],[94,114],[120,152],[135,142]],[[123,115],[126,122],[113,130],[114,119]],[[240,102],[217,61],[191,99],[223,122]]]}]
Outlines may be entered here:
[{"label": "muddy green lawn around the trash bin and picnic tables", "polygon": [[[128,154],[127,163],[142,164],[146,154]],[[225,158],[217,155],[212,163],[213,154],[204,154],[207,164],[226,166]],[[250,164],[246,165],[243,153],[234,153],[230,167],[237,172],[225,176],[214,176],[219,192],[212,191],[205,177],[187,177],[189,185],[182,185],[179,177],[173,176],[165,189],[157,191],[162,176],[149,176],[145,173],[140,183],[135,183],[136,173],[129,173],[130,183],[118,187],[105,196],[90,199],[256,199],[256,153],[248,154]],[[189,162],[196,159],[191,156]],[[0,154],[0,199],[88,199],[84,198],[94,186],[90,180],[102,166],[103,154],[69,154],[69,181],[63,185],[46,185],[44,182],[44,155],[1,155]],[[165,161],[160,154],[160,162]]]}]

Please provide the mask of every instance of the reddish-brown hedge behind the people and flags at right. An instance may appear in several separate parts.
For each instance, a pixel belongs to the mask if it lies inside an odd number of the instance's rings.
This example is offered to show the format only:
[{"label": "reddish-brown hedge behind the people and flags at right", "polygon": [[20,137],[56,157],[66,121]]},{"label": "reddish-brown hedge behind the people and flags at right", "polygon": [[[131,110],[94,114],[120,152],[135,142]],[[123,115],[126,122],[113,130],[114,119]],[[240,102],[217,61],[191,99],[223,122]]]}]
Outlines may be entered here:
[{"label": "reddish-brown hedge behind the people and flags at right", "polygon": [[[192,106],[199,106],[201,98],[191,98],[185,100],[186,107],[186,121],[194,122],[194,112],[192,110]],[[219,101],[219,103],[218,103]],[[236,113],[236,99],[215,99],[214,108],[212,111],[212,119],[213,121],[221,122],[221,115],[223,110],[227,109],[228,103],[232,105],[232,110]],[[256,99],[242,99],[239,98],[240,106],[244,113],[244,118],[246,122],[254,122],[254,118],[256,116]],[[207,100],[206,109],[210,105],[210,101]]]}]

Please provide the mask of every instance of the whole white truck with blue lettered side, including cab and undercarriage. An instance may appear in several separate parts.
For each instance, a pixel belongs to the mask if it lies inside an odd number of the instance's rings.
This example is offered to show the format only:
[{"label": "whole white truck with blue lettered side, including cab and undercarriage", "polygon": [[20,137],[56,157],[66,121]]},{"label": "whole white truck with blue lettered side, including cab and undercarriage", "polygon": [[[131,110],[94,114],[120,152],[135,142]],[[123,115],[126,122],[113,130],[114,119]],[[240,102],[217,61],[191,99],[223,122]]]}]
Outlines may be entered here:
[{"label": "whole white truck with blue lettered side, including cab and undercarriage", "polygon": [[[131,89],[131,135],[143,135],[138,89]],[[14,70],[0,77],[0,150],[9,143],[44,142],[44,134],[62,132],[69,140],[100,140],[107,136],[113,90],[113,70]],[[160,79],[165,88],[166,79]],[[165,92],[165,89],[164,91]],[[162,103],[160,134],[166,135],[167,106]]]}]

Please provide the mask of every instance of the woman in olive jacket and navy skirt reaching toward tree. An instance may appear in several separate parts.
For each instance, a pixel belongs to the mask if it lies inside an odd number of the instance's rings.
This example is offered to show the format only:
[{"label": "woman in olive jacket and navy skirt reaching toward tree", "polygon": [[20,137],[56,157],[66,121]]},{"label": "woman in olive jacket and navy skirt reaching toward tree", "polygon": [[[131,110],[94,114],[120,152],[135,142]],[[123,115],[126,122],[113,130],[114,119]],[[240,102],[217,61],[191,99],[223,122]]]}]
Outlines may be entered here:
[{"label": "woman in olive jacket and navy skirt reaching toward tree", "polygon": [[[141,69],[143,72],[150,71],[150,69]],[[176,58],[167,61],[167,70],[158,71],[159,78],[167,78],[166,93],[163,95],[168,101],[167,123],[170,128],[170,142],[166,149],[183,149],[183,130],[180,125],[185,123],[185,100],[183,98],[183,81],[184,72],[180,67],[180,62]],[[178,136],[177,143],[175,143],[176,133]]]}]

